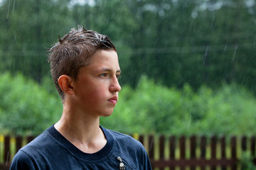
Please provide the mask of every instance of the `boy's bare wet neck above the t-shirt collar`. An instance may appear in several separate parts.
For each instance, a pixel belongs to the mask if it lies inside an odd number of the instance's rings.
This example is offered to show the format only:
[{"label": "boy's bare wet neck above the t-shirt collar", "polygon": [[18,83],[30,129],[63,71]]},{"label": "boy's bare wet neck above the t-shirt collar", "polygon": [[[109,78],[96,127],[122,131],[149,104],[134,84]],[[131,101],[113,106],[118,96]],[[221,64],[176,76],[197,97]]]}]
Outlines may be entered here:
[{"label": "boy's bare wet neck above the t-shirt collar", "polygon": [[100,118],[78,109],[64,106],[63,115],[54,127],[82,152],[97,152],[107,143],[100,129]]}]

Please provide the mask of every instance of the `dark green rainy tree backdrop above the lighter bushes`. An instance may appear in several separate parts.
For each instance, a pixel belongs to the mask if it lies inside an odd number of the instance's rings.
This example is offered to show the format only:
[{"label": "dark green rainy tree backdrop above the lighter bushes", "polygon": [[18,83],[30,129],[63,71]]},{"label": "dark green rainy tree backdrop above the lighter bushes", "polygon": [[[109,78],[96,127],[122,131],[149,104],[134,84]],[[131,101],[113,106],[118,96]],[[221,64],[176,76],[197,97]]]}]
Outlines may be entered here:
[{"label": "dark green rainy tree backdrop above the lighter bushes", "polygon": [[[46,48],[82,24],[117,46],[121,84],[245,86],[256,94],[256,4],[251,0],[2,0],[0,71],[50,77]],[[238,12],[239,11],[239,12]]]}]

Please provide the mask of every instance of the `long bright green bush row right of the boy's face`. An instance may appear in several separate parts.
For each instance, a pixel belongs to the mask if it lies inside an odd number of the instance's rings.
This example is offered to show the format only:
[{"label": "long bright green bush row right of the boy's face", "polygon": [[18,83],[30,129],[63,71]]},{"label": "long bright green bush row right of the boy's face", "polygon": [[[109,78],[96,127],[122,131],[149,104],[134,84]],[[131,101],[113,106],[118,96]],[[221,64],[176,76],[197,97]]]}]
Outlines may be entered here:
[{"label": "long bright green bush row right of the boy's face", "polygon": [[123,86],[119,102],[102,125],[126,133],[167,135],[255,134],[256,100],[236,84],[212,90],[168,88],[142,77],[136,89]]}]

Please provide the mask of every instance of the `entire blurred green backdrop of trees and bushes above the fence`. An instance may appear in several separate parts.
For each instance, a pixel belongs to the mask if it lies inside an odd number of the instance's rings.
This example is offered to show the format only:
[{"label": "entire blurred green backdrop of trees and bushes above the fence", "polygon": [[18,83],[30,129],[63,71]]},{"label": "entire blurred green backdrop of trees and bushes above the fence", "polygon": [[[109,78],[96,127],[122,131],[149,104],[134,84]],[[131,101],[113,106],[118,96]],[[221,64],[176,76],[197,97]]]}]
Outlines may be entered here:
[{"label": "entire blurred green backdrop of trees and bushes above the fence", "polygon": [[46,49],[82,24],[110,36],[122,68],[119,103],[102,125],[122,132],[255,134],[254,1],[71,2],[1,1],[2,132],[38,134],[58,120]]}]

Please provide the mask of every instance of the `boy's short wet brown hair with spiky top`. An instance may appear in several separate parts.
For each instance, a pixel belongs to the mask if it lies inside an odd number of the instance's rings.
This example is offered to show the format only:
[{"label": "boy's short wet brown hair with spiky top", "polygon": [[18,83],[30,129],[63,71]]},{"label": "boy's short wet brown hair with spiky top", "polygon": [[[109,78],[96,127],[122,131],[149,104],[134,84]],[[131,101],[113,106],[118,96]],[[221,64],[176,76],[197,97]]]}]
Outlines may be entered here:
[{"label": "boy's short wet brown hair with spiky top", "polygon": [[72,28],[70,33],[59,38],[58,42],[48,50],[50,73],[62,100],[64,93],[58,85],[58,78],[61,75],[68,75],[77,80],[79,69],[90,64],[90,59],[97,50],[117,52],[107,35],[94,30],[86,30],[83,26]]}]

